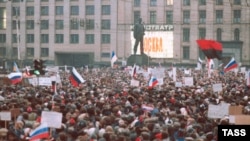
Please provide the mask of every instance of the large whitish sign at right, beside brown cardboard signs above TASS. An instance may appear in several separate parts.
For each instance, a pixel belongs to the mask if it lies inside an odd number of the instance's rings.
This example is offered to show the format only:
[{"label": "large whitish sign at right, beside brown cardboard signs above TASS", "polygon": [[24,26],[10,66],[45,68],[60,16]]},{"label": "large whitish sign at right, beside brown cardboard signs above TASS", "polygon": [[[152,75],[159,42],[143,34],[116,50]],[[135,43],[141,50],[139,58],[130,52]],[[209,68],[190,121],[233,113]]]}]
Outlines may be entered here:
[{"label": "large whitish sign at right, beside brown cardboard signs above TASS", "polygon": [[223,118],[229,114],[229,106],[227,103],[220,103],[219,105],[208,105],[208,117],[209,118]]}]

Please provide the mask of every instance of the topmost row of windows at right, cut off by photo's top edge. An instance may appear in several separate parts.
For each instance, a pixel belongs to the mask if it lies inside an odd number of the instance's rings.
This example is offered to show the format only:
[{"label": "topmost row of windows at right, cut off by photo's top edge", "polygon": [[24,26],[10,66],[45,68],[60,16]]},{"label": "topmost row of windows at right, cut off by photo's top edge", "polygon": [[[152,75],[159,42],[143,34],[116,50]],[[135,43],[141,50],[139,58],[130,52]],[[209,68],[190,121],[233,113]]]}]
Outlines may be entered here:
[{"label": "topmost row of windows at right, cut off by photo's top edge", "polygon": [[[223,5],[224,1],[223,0],[216,0],[215,4],[216,5]],[[241,3],[242,3],[241,0],[233,0],[233,1],[226,0],[225,2],[230,2],[230,4],[233,4],[233,5],[241,5]],[[145,3],[144,0],[134,0],[134,7],[140,7],[144,3]],[[213,1],[211,1],[211,0],[198,0],[199,5],[206,5],[207,3],[213,3]],[[182,4],[184,6],[190,6],[191,0],[182,0]],[[173,5],[173,0],[166,0],[166,5]],[[157,0],[150,0],[149,6],[151,6],[151,7],[157,6]]]}]

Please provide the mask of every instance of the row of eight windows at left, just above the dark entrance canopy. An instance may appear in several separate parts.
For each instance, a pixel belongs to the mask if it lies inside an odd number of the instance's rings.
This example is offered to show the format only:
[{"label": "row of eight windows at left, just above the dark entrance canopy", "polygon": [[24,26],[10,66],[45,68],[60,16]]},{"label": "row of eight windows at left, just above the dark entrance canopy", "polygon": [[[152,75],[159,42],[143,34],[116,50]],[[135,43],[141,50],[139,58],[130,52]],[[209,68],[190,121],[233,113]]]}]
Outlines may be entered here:
[{"label": "row of eight windows at left, just above the dark entrance canopy", "polygon": [[[17,43],[18,37],[17,34],[12,34],[12,43]],[[6,42],[6,34],[0,34],[0,43]],[[26,34],[26,43],[34,43],[35,35],[34,34]],[[41,34],[40,36],[41,43],[49,43],[49,34]],[[55,34],[55,43],[64,43],[64,34]],[[77,44],[79,43],[79,35],[71,34],[70,35],[70,43]],[[85,35],[85,44],[94,44],[95,43],[95,35],[94,34],[86,34]],[[109,44],[110,43],[110,34],[102,34],[101,35],[101,43]]]}]

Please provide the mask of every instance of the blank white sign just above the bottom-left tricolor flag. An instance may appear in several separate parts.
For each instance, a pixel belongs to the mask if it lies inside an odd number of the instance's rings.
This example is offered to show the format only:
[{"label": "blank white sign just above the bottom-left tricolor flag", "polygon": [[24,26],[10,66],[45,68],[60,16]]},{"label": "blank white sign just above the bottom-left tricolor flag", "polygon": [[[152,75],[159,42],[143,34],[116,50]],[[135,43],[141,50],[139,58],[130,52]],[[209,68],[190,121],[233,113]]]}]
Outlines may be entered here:
[{"label": "blank white sign just above the bottom-left tricolor flag", "polygon": [[60,129],[62,126],[62,113],[43,111],[41,123],[46,123],[49,127]]}]

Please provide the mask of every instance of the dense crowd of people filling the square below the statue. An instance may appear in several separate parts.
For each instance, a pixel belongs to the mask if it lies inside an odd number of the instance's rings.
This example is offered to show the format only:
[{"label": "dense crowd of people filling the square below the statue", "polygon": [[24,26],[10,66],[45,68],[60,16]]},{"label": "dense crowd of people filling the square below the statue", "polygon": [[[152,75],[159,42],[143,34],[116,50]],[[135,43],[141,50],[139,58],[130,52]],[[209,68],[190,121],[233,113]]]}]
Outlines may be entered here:
[{"label": "dense crowd of people filling the square below the statue", "polygon": [[[147,67],[141,67],[147,69]],[[44,141],[217,141],[217,125],[230,124],[228,117],[208,118],[209,104],[221,102],[245,107],[250,88],[245,74],[230,71],[220,74],[191,71],[192,86],[176,87],[166,68],[162,85],[148,87],[149,77],[127,69],[77,69],[85,82],[74,87],[70,73],[60,71],[56,92],[47,86],[2,85],[0,108],[20,108],[20,114],[1,121],[7,135],[3,140],[29,140],[30,132],[41,124],[42,111],[62,113],[61,128],[50,128]],[[177,68],[176,80],[185,76]],[[140,82],[131,86],[131,80]],[[222,83],[221,92],[212,84]],[[53,120],[53,119],[51,119]]]}]

